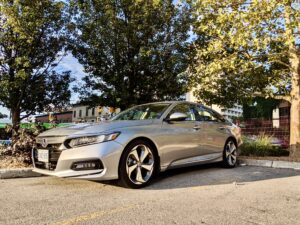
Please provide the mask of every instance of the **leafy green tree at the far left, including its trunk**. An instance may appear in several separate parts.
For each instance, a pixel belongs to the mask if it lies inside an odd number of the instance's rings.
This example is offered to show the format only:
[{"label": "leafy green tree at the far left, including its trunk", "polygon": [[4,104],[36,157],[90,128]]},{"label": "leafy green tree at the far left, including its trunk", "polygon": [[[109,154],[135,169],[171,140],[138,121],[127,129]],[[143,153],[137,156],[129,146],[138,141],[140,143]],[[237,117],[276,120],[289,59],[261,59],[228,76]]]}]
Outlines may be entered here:
[{"label": "leafy green tree at the far left, including its trunk", "polygon": [[[0,0],[0,104],[20,120],[70,98],[70,72],[54,69],[66,42],[64,3]],[[22,114],[22,117],[21,117]]]}]

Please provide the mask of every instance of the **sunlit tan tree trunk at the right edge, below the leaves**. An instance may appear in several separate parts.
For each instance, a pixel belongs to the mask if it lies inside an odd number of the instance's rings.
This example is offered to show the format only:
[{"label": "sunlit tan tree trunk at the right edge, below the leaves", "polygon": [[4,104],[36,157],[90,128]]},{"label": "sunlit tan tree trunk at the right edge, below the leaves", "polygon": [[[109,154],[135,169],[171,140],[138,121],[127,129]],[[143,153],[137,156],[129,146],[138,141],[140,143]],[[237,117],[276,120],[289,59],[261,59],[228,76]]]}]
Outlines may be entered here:
[{"label": "sunlit tan tree trunk at the right edge, below the leaves", "polygon": [[296,49],[290,50],[292,68],[290,150],[292,157],[300,157],[300,62]]}]

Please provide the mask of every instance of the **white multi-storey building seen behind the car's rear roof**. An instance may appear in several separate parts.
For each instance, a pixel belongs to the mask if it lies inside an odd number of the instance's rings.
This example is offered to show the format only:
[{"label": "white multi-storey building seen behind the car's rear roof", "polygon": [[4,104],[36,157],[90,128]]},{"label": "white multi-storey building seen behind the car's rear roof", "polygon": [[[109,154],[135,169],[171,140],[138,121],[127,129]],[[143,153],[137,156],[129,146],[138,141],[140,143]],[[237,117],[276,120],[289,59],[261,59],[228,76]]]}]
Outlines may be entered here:
[{"label": "white multi-storey building seen behind the car's rear roof", "polygon": [[[186,101],[190,101],[190,102],[198,101],[197,98],[193,95],[192,91],[186,93],[185,99],[186,99]],[[226,119],[229,119],[229,120],[243,116],[243,107],[238,104],[236,104],[234,107],[229,108],[229,109],[218,106],[218,105],[211,105],[209,107],[211,107],[213,110],[217,111],[218,113],[220,113]]]}]

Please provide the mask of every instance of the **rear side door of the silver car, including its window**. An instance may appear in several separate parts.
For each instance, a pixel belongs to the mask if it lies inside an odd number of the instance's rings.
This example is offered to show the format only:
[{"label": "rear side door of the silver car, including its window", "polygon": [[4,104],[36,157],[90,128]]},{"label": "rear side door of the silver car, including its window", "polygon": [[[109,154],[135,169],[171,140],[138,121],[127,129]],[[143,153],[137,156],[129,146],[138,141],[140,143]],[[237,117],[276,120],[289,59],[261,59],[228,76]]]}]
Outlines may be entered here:
[{"label": "rear side door of the silver car, including its window", "polygon": [[206,154],[222,152],[228,137],[225,119],[217,112],[202,105],[197,108],[198,114],[195,116],[203,134],[201,140],[203,152]]}]

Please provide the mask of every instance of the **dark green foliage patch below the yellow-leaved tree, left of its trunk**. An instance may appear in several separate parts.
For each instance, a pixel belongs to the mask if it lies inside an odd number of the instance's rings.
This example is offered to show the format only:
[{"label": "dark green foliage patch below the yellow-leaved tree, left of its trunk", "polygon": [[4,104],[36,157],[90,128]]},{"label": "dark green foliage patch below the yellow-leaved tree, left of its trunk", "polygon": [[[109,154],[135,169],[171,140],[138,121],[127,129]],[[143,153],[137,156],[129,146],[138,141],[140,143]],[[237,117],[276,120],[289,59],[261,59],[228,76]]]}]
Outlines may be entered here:
[{"label": "dark green foliage patch below the yellow-leaved tree, left of its trunk", "polygon": [[272,119],[273,109],[279,105],[279,102],[277,99],[255,97],[243,104],[243,117],[244,119]]}]

